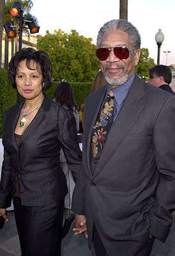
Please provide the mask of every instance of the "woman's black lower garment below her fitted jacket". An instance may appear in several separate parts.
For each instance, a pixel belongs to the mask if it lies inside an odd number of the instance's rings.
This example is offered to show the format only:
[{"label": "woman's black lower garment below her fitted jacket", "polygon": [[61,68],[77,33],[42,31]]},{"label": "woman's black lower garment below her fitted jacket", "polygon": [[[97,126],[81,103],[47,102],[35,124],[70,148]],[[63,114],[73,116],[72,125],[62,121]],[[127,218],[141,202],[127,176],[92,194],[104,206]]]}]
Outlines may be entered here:
[{"label": "woman's black lower garment below her fitted jacket", "polygon": [[64,200],[43,206],[20,205],[14,200],[21,256],[61,255]]}]

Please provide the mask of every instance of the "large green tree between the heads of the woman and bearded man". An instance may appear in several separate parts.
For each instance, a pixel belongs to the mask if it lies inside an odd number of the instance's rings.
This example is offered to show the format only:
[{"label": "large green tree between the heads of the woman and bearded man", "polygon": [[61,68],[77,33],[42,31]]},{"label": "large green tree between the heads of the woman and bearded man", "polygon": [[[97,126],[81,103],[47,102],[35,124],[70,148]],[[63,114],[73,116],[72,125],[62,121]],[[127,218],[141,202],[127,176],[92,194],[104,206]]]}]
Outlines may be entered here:
[{"label": "large green tree between the heads of the woman and bearded man", "polygon": [[55,80],[88,82],[93,81],[99,69],[96,45],[91,42],[91,38],[79,36],[75,30],[68,34],[59,29],[38,36],[37,48],[49,55]]}]

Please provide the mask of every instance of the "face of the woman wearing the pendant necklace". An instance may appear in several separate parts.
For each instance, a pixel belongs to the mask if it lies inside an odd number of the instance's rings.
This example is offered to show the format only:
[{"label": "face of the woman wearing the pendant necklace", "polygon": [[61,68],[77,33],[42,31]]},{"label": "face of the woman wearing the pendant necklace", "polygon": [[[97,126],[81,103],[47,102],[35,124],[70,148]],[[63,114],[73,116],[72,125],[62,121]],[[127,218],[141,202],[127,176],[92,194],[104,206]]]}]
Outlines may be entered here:
[{"label": "face of the woman wearing the pendant necklace", "polygon": [[[38,65],[37,65],[38,66]],[[39,67],[37,71],[36,62],[31,60],[29,68],[26,66],[26,60],[22,60],[17,67],[15,82],[17,90],[27,100],[40,99],[42,93],[42,70]]]}]

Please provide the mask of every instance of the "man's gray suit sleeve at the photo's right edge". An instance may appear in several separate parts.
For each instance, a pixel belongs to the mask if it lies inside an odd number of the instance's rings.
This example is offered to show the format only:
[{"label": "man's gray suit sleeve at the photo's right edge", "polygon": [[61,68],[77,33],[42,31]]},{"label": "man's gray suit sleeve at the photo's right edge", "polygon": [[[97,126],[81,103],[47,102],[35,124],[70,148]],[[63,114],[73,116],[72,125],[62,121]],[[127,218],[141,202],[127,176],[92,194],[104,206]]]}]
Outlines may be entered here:
[{"label": "man's gray suit sleeve at the photo's right edge", "polygon": [[175,97],[162,106],[153,131],[155,159],[160,179],[150,212],[150,234],[165,241],[175,209]]}]

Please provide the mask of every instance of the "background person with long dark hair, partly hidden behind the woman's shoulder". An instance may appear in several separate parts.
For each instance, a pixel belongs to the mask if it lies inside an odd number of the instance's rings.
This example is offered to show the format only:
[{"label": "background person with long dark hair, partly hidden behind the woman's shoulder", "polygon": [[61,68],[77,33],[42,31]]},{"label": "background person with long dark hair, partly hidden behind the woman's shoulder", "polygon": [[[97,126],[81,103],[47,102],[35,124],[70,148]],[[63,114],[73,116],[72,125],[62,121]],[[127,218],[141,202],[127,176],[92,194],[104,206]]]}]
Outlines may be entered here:
[{"label": "background person with long dark hair, partly hidden behind the woman's shoulder", "polygon": [[[67,82],[58,84],[54,92],[54,101],[73,113],[77,124],[77,132],[79,132],[79,106],[75,103],[72,86]],[[65,207],[70,209],[75,182],[73,180],[72,172],[69,172],[68,163],[66,162],[66,157],[62,149],[60,151],[60,162],[68,186],[68,194],[65,196]]]}]

